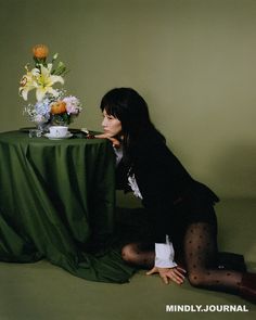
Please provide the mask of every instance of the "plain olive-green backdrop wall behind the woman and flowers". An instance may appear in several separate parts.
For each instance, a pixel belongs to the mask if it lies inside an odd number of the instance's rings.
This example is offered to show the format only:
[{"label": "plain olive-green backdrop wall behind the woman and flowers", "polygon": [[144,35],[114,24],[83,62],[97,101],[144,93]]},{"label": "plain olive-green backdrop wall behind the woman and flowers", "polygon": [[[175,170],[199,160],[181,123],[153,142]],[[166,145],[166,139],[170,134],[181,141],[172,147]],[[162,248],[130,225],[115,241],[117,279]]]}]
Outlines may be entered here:
[{"label": "plain olive-green backdrop wall behind the woman and flowers", "polygon": [[18,81],[46,43],[85,106],[74,127],[100,129],[101,97],[133,87],[195,179],[255,197],[255,0],[0,0],[0,131],[29,125]]}]

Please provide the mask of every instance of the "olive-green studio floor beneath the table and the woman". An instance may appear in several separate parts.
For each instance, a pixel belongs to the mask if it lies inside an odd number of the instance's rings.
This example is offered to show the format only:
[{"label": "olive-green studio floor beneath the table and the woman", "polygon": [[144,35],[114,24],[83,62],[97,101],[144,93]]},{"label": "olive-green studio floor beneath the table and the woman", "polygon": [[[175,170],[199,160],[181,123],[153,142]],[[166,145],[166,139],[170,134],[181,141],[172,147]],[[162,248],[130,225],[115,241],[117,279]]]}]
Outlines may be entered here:
[{"label": "olive-green studio floor beneath the table and the woman", "polygon": [[[225,200],[216,206],[220,251],[243,254],[256,272],[256,200]],[[212,311],[166,311],[166,306],[208,306]],[[213,311],[235,305],[247,311]],[[256,305],[225,293],[165,285],[137,272],[129,283],[76,278],[46,260],[0,263],[0,320],[256,319]]]}]

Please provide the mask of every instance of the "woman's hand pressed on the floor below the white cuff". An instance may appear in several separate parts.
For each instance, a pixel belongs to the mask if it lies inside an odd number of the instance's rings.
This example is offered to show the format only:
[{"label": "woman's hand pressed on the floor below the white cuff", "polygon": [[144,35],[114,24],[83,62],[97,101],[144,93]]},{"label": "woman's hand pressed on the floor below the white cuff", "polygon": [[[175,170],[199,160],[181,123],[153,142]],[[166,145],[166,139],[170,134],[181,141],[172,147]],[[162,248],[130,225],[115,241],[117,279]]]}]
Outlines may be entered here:
[{"label": "woman's hand pressed on the floor below the white cuff", "polygon": [[180,267],[175,267],[175,268],[154,267],[153,269],[146,272],[146,276],[151,276],[153,273],[159,273],[159,277],[162,278],[165,284],[168,284],[170,281],[174,281],[178,284],[182,284],[184,282],[185,270]]}]

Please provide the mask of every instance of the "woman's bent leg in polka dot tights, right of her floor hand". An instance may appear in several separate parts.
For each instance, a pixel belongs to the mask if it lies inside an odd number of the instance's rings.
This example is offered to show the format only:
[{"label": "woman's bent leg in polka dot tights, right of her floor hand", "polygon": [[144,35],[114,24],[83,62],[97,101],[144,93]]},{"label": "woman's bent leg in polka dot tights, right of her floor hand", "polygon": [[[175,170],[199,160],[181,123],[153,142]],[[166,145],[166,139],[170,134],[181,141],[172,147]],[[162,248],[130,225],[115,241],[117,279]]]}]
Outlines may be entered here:
[{"label": "woman's bent leg in polka dot tights, right of her floor hand", "polygon": [[239,293],[242,272],[215,267],[217,241],[214,227],[206,222],[192,223],[184,234],[187,274],[193,286]]}]

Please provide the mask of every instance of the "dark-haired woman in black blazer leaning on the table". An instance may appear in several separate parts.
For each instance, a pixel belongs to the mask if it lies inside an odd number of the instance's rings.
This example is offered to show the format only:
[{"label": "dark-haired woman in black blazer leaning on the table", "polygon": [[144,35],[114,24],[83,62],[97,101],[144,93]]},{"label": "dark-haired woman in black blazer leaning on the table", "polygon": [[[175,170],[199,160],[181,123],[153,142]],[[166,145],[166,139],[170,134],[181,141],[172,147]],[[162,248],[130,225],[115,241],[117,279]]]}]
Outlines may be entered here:
[{"label": "dark-haired woman in black blazer leaning on the table", "polygon": [[144,228],[150,230],[123,247],[123,258],[152,268],[148,274],[157,272],[165,283],[183,283],[185,269],[194,286],[255,302],[256,274],[217,267],[217,195],[195,181],[167,148],[143,98],[130,88],[113,89],[103,97],[101,110],[104,133],[97,138],[113,142],[118,185],[142,200]]}]

